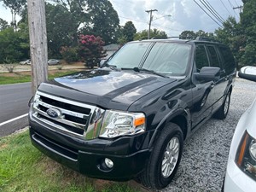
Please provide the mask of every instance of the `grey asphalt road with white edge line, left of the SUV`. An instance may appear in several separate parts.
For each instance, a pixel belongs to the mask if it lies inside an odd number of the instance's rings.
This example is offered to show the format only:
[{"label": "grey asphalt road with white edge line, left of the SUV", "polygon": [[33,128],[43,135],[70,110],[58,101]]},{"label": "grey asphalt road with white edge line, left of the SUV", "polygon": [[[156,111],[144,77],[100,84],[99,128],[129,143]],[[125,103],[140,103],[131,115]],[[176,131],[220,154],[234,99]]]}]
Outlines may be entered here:
[{"label": "grey asphalt road with white edge line, left of the SUV", "polygon": [[[27,103],[31,97],[31,83],[0,85],[0,137],[28,125],[25,114],[28,113]],[[22,118],[12,121],[21,115]]]}]

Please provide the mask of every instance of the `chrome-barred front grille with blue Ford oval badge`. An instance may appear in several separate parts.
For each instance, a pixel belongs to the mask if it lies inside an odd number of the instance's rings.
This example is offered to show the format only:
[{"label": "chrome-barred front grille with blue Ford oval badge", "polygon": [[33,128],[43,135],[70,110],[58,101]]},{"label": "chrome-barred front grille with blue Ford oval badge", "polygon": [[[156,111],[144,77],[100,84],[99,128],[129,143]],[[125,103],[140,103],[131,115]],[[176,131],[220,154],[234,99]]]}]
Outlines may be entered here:
[{"label": "chrome-barred front grille with blue Ford oval badge", "polygon": [[[52,129],[81,138],[85,138],[87,132],[95,128],[95,114],[99,111],[104,113],[101,108],[40,91],[36,93],[32,105],[33,118],[50,125]],[[87,139],[97,137],[89,135]]]}]

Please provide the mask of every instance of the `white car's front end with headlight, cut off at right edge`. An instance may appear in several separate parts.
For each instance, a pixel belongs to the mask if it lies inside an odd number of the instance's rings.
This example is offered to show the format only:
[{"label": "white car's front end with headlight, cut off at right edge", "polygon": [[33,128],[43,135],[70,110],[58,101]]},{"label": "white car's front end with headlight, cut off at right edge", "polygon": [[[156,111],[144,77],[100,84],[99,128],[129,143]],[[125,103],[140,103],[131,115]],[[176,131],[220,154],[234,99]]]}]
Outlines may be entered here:
[{"label": "white car's front end with headlight, cut off at right edge", "polygon": [[224,179],[224,192],[240,191],[256,191],[256,99],[236,126]]}]

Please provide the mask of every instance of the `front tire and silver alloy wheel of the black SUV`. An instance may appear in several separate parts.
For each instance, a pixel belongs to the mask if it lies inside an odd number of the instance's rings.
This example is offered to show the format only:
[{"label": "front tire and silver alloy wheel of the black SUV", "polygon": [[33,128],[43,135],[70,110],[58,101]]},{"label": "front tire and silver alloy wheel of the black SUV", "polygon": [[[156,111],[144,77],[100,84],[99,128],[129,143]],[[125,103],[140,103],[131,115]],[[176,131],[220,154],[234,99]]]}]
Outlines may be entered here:
[{"label": "front tire and silver alloy wheel of the black SUV", "polygon": [[163,189],[177,172],[183,152],[183,132],[169,123],[161,131],[140,180],[150,189]]}]

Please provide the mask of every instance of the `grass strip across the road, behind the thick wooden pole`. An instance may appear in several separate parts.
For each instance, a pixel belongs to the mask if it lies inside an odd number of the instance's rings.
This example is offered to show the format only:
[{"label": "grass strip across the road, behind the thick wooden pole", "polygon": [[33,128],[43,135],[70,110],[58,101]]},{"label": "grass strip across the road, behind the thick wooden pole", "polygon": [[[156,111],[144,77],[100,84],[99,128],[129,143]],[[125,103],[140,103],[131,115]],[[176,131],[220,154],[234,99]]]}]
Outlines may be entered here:
[{"label": "grass strip across the road, behind the thick wooden pole", "polygon": [[[81,71],[81,69],[69,69],[69,70],[50,70],[49,79],[54,79],[63,75]],[[0,73],[0,84],[17,84],[31,82],[30,72],[18,72],[18,73]]]}]

